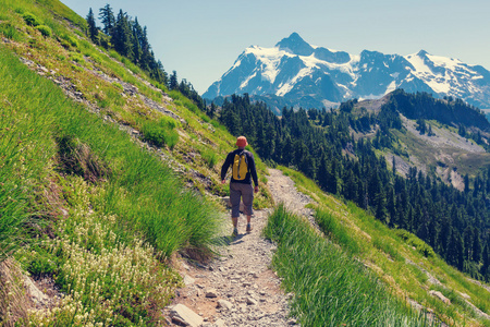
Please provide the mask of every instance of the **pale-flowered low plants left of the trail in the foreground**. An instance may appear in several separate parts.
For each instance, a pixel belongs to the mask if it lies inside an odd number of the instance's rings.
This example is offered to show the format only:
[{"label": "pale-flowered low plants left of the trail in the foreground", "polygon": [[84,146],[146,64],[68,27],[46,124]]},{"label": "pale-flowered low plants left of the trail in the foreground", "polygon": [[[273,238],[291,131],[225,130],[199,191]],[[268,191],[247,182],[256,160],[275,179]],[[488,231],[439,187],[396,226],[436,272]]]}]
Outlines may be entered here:
[{"label": "pale-flowered low plants left of the trail in the foreground", "polygon": [[[115,216],[91,213],[90,193],[79,177],[68,178],[70,219],[58,220],[58,238],[46,238],[17,256],[30,274],[49,274],[66,294],[57,310],[36,311],[35,326],[148,326],[162,319],[155,307],[169,304],[179,275],[164,267],[155,249],[133,237],[123,240]],[[65,190],[68,191],[68,189]],[[73,310],[74,308],[74,310]]]}]

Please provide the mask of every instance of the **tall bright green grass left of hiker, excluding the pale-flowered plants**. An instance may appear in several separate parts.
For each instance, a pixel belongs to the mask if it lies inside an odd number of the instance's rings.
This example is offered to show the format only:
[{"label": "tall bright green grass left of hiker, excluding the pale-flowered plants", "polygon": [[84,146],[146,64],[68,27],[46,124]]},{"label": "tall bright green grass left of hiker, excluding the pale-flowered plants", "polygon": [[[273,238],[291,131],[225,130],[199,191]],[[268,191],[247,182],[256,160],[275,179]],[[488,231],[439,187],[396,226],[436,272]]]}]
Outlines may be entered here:
[{"label": "tall bright green grass left of hiker, excluding the pale-flowered plants", "polygon": [[2,243],[12,244],[34,214],[29,194],[50,172],[47,162],[56,156],[56,140],[71,137],[109,165],[107,190],[94,203],[102,213],[117,215],[121,232],[143,234],[167,257],[187,247],[210,251],[219,226],[211,204],[185,190],[170,168],[127,134],[69,100],[4,48],[0,62]]}]

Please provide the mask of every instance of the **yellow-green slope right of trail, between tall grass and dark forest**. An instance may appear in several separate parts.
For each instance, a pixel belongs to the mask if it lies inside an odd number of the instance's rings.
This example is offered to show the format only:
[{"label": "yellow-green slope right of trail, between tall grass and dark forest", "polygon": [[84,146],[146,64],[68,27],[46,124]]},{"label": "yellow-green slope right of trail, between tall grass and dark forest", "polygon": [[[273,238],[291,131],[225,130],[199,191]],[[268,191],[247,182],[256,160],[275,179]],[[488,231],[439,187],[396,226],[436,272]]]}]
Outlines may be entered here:
[{"label": "yellow-green slope right of trail, between tall grass and dark forest", "polygon": [[[450,325],[490,326],[490,322],[479,318],[463,296],[469,295],[470,303],[488,313],[490,292],[448,266],[417,237],[406,231],[391,230],[354,204],[345,205],[324,194],[303,174],[286,168],[282,170],[293,178],[301,192],[308,194],[317,203],[316,219],[330,239],[358,257],[401,301],[414,300]],[[420,268],[437,278],[442,286],[431,283],[428,275]],[[452,304],[446,305],[430,295],[430,290],[441,291]]]}]

